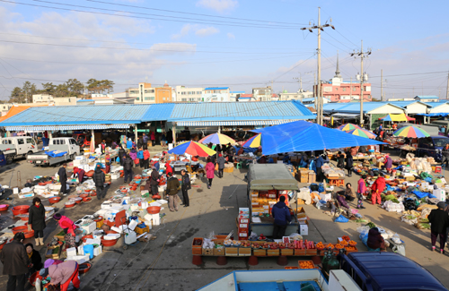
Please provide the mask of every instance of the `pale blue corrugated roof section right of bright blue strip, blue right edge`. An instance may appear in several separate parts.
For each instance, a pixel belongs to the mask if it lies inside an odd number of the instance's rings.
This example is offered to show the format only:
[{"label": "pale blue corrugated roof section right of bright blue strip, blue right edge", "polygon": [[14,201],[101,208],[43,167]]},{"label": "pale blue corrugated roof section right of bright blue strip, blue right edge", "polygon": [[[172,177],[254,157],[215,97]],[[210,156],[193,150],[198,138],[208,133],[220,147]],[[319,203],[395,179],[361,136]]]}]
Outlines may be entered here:
[{"label": "pale blue corrugated roof section right of bright blue strip, blue right edge", "polygon": [[297,101],[207,102],[176,104],[169,121],[313,119]]}]

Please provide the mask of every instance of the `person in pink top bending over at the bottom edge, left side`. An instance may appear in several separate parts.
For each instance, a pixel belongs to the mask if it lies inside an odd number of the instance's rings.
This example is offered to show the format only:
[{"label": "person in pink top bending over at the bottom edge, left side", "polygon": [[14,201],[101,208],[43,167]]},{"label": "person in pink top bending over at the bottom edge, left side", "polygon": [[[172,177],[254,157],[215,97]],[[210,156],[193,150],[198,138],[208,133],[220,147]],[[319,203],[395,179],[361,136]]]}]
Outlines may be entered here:
[{"label": "person in pink top bending over at the bottom edge, left side", "polygon": [[[50,285],[59,285],[61,291],[67,291],[70,282],[74,284],[75,291],[80,288],[78,263],[76,261],[64,261],[58,265],[51,265],[39,272],[42,278],[50,279]],[[72,289],[74,290],[74,289]]]}]

